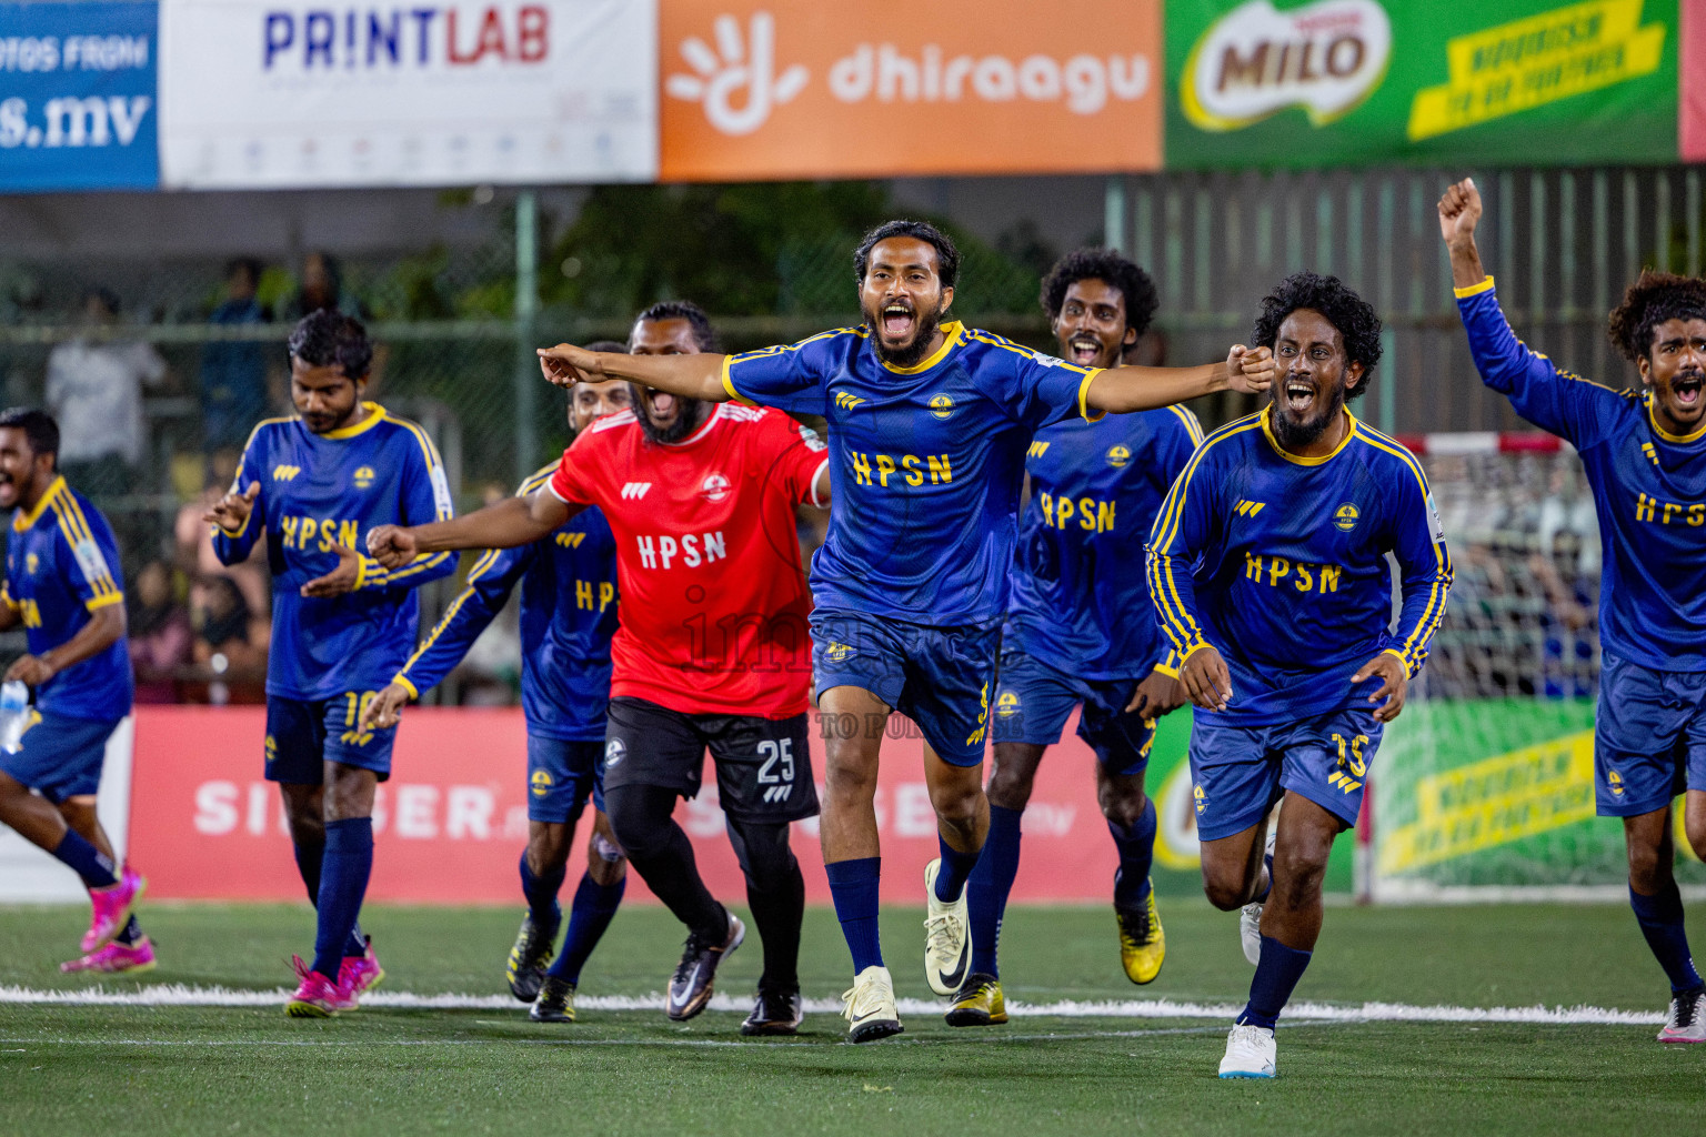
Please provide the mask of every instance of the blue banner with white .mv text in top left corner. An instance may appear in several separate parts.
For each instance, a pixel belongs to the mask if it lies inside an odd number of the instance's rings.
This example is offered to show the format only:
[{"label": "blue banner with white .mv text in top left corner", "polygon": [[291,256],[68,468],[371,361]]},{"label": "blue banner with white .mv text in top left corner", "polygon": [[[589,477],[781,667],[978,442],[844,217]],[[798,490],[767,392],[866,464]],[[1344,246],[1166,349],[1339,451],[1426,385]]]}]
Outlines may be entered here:
[{"label": "blue banner with white .mv text in top left corner", "polygon": [[0,193],[154,189],[157,9],[0,5]]}]

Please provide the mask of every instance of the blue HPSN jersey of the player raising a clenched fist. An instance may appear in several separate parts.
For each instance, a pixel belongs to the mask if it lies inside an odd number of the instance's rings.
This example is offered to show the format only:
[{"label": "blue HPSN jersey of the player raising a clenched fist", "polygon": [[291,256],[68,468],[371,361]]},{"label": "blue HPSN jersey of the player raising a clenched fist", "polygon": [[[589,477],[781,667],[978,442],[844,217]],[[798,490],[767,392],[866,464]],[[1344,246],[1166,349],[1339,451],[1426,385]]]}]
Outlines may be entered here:
[{"label": "blue HPSN jersey of the player raising a clenched fist", "polygon": [[1706,672],[1706,426],[1672,435],[1650,399],[1559,368],[1517,339],[1493,278],[1457,291],[1481,382],[1581,455],[1599,511],[1600,643],[1662,672]]}]

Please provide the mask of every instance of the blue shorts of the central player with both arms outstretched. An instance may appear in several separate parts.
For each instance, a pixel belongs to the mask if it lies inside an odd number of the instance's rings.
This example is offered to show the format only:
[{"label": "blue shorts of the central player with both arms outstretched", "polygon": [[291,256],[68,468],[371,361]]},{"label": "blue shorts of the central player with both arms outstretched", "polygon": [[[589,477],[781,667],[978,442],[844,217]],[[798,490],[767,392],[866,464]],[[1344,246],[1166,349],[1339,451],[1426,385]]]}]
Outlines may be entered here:
[{"label": "blue shorts of the central player with both arms outstretched", "polygon": [[812,614],[817,694],[862,687],[918,723],[950,765],[983,762],[1001,622],[926,627],[862,612]]}]

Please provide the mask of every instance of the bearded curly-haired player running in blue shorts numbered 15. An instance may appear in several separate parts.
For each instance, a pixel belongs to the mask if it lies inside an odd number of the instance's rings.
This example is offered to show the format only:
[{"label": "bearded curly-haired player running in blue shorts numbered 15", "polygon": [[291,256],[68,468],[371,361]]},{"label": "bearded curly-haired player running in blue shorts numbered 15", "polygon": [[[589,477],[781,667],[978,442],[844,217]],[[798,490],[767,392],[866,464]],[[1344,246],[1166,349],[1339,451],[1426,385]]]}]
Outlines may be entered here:
[{"label": "bearded curly-haired player running in blue shorts numbered 15", "polygon": [[[1259,414],[1203,442],[1150,534],[1150,592],[1199,714],[1191,777],[1203,886],[1262,903],[1250,999],[1221,1077],[1273,1077],[1274,1023],[1320,934],[1332,840],[1445,612],[1452,563],[1421,465],[1360,423],[1380,320],[1332,276],[1262,300],[1281,373]],[[1392,626],[1392,573],[1402,610]],[[1280,832],[1264,857],[1268,813]]]}]

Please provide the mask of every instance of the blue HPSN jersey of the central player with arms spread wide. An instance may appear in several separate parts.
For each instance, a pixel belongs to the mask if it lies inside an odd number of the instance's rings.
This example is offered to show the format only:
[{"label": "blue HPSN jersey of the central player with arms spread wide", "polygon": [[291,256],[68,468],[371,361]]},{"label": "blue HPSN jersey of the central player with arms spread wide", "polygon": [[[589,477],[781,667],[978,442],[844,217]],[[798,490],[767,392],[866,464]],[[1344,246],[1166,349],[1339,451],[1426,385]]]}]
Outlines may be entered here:
[{"label": "blue HPSN jersey of the central player with arms spread wide", "polygon": [[1085,414],[1099,370],[942,326],[916,366],[877,356],[865,327],[728,356],[723,387],[829,423],[829,539],[812,557],[819,609],[954,627],[1007,612],[1030,436]]}]

